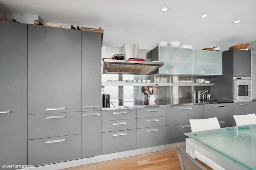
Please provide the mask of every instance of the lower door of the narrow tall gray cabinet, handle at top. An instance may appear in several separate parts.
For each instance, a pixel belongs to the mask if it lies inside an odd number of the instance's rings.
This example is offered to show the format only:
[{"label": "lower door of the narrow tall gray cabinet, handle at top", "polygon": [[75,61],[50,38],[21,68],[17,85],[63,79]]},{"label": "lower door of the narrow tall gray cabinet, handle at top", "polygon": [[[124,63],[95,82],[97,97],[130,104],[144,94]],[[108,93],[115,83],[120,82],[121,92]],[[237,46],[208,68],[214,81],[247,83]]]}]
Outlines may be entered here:
[{"label": "lower door of the narrow tall gray cabinet, handle at top", "polygon": [[102,153],[101,111],[82,112],[82,157]]}]

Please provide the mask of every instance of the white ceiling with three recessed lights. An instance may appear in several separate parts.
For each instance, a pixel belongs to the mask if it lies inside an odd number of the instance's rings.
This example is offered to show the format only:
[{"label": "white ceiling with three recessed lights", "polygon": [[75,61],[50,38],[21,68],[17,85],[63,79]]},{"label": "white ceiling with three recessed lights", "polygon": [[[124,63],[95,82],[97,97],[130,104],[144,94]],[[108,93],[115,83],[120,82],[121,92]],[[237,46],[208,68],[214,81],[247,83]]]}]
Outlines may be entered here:
[{"label": "white ceiling with three recessed lights", "polygon": [[[169,10],[161,12],[163,6]],[[0,11],[199,41],[256,40],[256,0],[0,0]],[[208,17],[200,18],[202,14]]]}]

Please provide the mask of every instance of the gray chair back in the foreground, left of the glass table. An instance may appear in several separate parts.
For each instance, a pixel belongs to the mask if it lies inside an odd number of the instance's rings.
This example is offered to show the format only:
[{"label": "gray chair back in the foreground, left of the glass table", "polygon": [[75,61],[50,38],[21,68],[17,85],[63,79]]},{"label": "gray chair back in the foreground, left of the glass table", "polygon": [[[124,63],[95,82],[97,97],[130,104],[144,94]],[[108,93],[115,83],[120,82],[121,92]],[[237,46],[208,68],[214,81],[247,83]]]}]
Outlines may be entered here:
[{"label": "gray chair back in the foreground, left of the glass table", "polygon": [[194,160],[185,150],[177,147],[178,156],[180,159],[180,166],[182,170],[207,170],[199,162]]}]

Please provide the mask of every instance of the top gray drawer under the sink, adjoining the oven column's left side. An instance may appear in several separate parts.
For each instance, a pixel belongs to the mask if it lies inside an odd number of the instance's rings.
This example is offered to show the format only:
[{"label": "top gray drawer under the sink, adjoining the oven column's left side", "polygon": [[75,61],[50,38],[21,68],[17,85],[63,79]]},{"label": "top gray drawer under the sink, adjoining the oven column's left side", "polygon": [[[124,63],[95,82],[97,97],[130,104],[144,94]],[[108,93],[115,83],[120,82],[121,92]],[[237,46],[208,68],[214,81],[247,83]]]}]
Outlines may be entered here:
[{"label": "top gray drawer under the sink, adjoining the oven column's left side", "polygon": [[204,105],[204,118],[230,119],[234,115],[234,103]]}]

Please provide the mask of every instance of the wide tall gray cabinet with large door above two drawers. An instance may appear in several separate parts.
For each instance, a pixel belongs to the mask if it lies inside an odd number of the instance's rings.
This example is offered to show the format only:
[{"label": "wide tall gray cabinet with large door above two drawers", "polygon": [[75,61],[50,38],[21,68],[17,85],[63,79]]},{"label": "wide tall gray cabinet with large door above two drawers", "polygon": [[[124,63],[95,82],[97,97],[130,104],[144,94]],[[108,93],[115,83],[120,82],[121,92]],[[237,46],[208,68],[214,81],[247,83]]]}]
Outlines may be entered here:
[{"label": "wide tall gray cabinet with large door above two drawers", "polygon": [[82,157],[81,31],[28,25],[28,164]]}]

